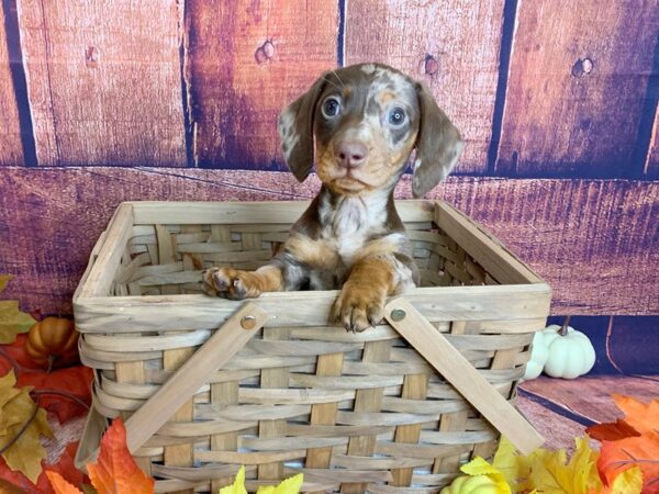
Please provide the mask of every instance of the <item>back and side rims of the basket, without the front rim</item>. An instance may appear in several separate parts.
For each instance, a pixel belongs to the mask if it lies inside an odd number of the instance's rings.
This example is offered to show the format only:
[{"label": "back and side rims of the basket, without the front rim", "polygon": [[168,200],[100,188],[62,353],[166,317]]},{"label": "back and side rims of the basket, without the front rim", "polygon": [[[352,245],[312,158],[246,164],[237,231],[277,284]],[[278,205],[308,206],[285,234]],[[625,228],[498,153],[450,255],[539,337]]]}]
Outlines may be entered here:
[{"label": "back and side rims of the basket, without the front rim", "polygon": [[[224,224],[281,224],[294,222],[308,203],[309,201],[122,202],[92,249],[87,269],[74,293],[74,302],[78,299],[108,293],[112,283],[111,276],[119,267],[124,245],[133,226],[154,224],[154,221],[159,221],[154,214],[166,216],[165,224],[181,223],[179,220],[186,220],[185,223],[188,224],[212,224],[217,222],[219,214],[222,215]],[[396,206],[402,206],[399,209],[399,214],[403,222],[434,222],[500,283],[547,285],[545,280],[507,249],[501,240],[446,201],[400,200],[395,203]],[[193,218],[193,222],[190,218]]]}]

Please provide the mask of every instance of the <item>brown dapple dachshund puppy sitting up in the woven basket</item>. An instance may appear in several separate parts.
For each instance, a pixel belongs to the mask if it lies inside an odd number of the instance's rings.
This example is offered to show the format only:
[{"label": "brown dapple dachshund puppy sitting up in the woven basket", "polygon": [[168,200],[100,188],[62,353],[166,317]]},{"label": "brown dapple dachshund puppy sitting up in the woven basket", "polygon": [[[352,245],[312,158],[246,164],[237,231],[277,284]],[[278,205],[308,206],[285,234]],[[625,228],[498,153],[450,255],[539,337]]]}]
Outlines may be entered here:
[{"label": "brown dapple dachshund puppy sitting up in the woven basket", "polygon": [[283,110],[279,134],[299,181],[315,157],[321,191],[269,265],[256,271],[208,269],[204,291],[242,300],[342,289],[331,322],[351,332],[375,326],[387,296],[418,282],[393,189],[413,149],[413,194],[433,189],[457,161],[460,134],[423,85],[380,64],[324,74]]}]

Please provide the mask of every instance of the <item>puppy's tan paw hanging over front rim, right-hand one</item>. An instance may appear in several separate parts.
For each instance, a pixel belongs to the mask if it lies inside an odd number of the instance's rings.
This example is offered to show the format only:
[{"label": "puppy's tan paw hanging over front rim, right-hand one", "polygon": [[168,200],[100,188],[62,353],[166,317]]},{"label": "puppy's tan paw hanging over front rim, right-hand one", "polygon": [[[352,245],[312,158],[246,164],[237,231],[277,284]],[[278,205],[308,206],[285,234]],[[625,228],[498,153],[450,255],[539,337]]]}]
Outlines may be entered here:
[{"label": "puppy's tan paw hanging over front rim, right-hand one", "polygon": [[332,319],[348,332],[361,333],[382,321],[386,300],[384,291],[348,281],[334,302]]}]

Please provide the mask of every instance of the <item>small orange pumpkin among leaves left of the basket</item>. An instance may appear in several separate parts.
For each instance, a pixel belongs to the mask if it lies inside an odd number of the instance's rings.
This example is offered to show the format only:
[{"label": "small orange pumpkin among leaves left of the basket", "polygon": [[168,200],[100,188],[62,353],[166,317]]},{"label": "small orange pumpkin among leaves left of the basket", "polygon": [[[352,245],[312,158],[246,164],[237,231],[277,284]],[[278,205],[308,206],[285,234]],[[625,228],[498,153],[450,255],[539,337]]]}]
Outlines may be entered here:
[{"label": "small orange pumpkin among leaves left of the basket", "polygon": [[30,328],[25,352],[41,366],[66,367],[78,361],[78,336],[74,322],[45,317]]}]

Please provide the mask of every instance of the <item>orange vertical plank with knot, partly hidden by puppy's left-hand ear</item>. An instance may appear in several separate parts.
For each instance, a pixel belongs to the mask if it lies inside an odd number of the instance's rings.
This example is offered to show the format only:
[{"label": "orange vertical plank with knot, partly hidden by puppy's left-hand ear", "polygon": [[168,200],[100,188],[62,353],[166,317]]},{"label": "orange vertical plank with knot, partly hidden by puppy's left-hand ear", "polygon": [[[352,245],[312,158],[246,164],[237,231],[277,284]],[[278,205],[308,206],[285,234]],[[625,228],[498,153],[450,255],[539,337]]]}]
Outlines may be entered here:
[{"label": "orange vertical plank with knot, partly hidden by puppy's left-hand ear", "polygon": [[187,2],[196,165],[283,169],[277,117],[336,66],[337,26],[337,2]]}]

